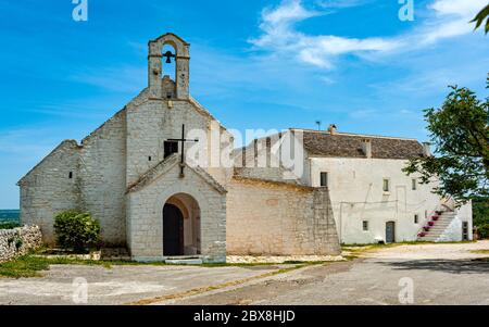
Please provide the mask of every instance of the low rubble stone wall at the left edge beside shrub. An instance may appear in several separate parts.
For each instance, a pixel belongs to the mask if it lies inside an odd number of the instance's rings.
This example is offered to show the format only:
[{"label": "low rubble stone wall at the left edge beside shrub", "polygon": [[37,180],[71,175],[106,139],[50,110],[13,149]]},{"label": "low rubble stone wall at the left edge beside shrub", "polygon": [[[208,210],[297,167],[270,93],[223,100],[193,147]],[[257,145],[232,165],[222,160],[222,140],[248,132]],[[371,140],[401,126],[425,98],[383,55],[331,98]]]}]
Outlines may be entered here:
[{"label": "low rubble stone wall at the left edge beside shrub", "polygon": [[42,235],[38,226],[0,229],[0,262],[27,254],[41,244]]}]

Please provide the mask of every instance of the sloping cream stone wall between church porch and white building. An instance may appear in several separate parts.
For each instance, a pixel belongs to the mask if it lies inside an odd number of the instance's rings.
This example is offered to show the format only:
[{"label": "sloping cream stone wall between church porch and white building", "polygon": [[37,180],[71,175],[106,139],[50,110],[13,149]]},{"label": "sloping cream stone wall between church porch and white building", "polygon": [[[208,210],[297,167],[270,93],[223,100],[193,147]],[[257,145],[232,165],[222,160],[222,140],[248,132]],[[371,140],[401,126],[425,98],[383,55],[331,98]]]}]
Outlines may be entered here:
[{"label": "sloping cream stone wall between church porch and white building", "polygon": [[228,185],[226,239],[236,255],[340,253],[327,189],[266,180]]}]

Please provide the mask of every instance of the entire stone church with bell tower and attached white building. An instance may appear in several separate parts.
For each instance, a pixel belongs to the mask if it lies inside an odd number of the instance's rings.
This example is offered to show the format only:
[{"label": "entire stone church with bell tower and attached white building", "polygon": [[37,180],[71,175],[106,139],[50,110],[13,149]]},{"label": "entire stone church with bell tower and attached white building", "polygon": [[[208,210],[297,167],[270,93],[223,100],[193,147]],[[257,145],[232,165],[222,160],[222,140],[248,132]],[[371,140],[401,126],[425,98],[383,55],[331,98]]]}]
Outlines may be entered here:
[{"label": "entire stone church with bell tower and attached white building", "polygon": [[[163,53],[167,46],[174,51]],[[416,140],[334,126],[290,129],[292,143],[300,139],[304,148],[299,174],[280,160],[271,164],[281,134],[234,149],[233,135],[189,93],[189,48],[171,33],[150,41],[148,87],[80,143],[61,142],[18,181],[21,219],[40,226],[47,243],[55,241],[53,216],[71,209],[99,219],[106,247],[126,247],[143,262],[336,255],[340,242],[416,239],[423,221],[444,207],[451,232],[472,230],[468,209],[448,210],[428,186],[408,191],[415,181],[402,165],[427,155]],[[163,72],[172,61],[175,80]]]}]

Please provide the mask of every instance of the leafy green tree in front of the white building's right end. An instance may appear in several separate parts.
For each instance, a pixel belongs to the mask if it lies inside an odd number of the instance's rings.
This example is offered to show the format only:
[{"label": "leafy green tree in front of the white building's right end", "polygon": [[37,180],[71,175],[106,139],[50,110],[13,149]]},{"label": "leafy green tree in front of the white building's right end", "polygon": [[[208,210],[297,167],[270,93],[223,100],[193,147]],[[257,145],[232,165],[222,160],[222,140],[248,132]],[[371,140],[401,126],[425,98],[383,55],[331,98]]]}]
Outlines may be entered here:
[{"label": "leafy green tree in front of the white building's right end", "polygon": [[489,98],[484,102],[467,88],[450,88],[440,109],[425,110],[436,155],[411,160],[404,172],[421,174],[424,184],[438,178],[436,193],[466,203],[489,194]]}]

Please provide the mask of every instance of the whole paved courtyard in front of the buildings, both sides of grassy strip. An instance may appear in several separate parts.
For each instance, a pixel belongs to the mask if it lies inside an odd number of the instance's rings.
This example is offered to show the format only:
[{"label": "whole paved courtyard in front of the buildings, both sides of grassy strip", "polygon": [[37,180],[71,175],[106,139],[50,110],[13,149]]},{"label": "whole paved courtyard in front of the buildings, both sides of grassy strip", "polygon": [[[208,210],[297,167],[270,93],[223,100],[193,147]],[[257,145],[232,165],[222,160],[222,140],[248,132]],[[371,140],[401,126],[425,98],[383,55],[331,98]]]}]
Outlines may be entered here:
[{"label": "whole paved courtyard in front of the buildings, both sides of grassy strip", "polygon": [[383,248],[280,274],[280,265],[55,265],[40,278],[0,278],[0,304],[76,304],[75,278],[88,281],[88,304],[399,304],[406,280],[414,304],[489,304],[489,253],[478,250],[489,241]]}]

